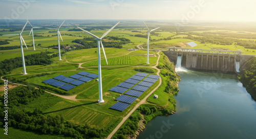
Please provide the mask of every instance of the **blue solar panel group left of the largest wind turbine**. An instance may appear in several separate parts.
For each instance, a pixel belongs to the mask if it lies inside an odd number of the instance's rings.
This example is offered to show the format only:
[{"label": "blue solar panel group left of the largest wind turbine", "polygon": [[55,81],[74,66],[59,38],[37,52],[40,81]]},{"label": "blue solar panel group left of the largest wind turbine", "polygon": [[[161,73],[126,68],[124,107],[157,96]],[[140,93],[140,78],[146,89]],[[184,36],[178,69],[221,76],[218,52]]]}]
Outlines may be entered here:
[{"label": "blue solar panel group left of the largest wind turbine", "polygon": [[[73,89],[75,86],[79,86],[79,85],[83,84],[84,82],[88,82],[96,77],[98,77],[97,74],[93,74],[93,73],[91,74],[89,72],[82,71],[77,74],[71,75],[70,77],[58,75],[58,76],[53,77],[54,79],[50,78],[50,79],[44,80],[42,82],[49,84],[51,86],[54,86],[56,88],[60,88],[60,89],[69,91],[69,90]],[[55,80],[55,79],[57,79],[57,80]],[[72,85],[70,85],[70,84],[72,84]],[[75,85],[75,86],[73,86],[73,85]]]}]

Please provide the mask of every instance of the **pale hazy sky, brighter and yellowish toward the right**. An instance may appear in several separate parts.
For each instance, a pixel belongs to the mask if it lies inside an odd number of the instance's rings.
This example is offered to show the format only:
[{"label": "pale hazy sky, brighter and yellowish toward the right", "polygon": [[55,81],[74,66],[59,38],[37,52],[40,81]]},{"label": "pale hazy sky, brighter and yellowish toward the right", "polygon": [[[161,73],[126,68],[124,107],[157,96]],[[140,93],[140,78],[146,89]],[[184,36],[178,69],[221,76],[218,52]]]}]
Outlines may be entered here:
[{"label": "pale hazy sky, brighter and yellowish toward the right", "polygon": [[252,0],[0,0],[0,19],[256,21]]}]

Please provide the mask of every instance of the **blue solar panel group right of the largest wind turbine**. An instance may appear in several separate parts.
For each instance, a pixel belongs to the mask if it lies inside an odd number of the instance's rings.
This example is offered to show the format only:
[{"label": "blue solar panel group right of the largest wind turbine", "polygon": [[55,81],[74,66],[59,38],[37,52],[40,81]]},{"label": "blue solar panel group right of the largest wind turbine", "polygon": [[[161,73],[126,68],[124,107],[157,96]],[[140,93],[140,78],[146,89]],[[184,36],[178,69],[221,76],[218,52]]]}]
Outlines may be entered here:
[{"label": "blue solar panel group right of the largest wind turbine", "polygon": [[[128,107],[130,104],[132,104],[137,99],[135,97],[139,97],[140,95],[142,95],[160,77],[158,75],[152,75],[152,74],[150,74],[148,76],[147,75],[148,75],[147,73],[138,72],[137,74],[133,75],[129,79],[126,79],[123,82],[121,82],[119,85],[111,88],[110,91],[117,92],[117,93],[123,93],[136,85],[131,90],[124,93],[124,95],[121,95],[117,99],[115,99],[115,100],[121,101],[121,102],[115,103],[110,108],[120,110],[122,112],[126,107]],[[139,82],[139,84],[138,84],[138,82]],[[129,95],[129,96],[126,96],[126,95]],[[134,97],[131,97],[131,96],[134,96]],[[124,102],[124,103],[122,103],[122,102]],[[126,104],[126,103],[129,103],[129,104]]]}]

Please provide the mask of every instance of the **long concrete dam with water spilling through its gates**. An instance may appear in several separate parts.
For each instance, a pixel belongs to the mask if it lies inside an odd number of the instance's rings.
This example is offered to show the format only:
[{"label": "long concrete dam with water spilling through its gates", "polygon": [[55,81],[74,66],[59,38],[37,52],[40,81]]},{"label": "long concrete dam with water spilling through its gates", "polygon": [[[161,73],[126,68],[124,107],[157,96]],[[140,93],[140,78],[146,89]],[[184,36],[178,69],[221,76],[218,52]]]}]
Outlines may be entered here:
[{"label": "long concrete dam with water spilling through its gates", "polygon": [[240,50],[214,50],[169,47],[163,53],[174,65],[188,69],[223,72],[240,72],[253,55],[244,55]]}]

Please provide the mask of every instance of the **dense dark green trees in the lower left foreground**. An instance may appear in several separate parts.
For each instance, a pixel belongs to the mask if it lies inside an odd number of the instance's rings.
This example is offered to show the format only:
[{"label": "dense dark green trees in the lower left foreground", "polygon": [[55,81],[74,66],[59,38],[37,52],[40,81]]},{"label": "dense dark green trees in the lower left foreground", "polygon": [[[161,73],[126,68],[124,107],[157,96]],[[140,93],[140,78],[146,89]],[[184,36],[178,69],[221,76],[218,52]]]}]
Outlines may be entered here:
[{"label": "dense dark green trees in the lower left foreground", "polygon": [[[17,129],[29,130],[44,134],[65,135],[74,138],[99,138],[109,134],[110,129],[92,128],[89,125],[77,125],[66,121],[62,116],[47,115],[43,113],[43,108],[34,108],[32,111],[26,109],[36,98],[56,97],[46,93],[42,89],[35,89],[33,86],[19,86],[8,92],[8,125]],[[53,98],[52,98],[53,99]],[[56,103],[61,98],[56,97]],[[4,103],[4,97],[1,96]],[[4,108],[1,107],[0,116],[4,116]],[[0,122],[3,127],[3,122]]]}]

